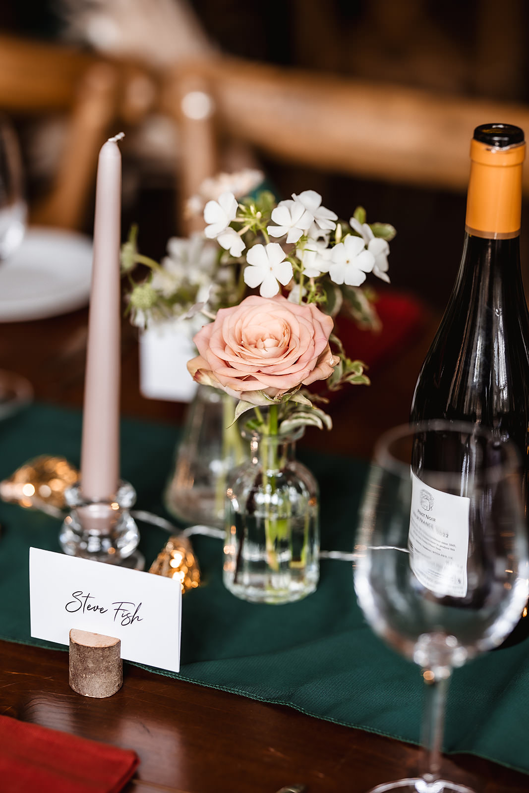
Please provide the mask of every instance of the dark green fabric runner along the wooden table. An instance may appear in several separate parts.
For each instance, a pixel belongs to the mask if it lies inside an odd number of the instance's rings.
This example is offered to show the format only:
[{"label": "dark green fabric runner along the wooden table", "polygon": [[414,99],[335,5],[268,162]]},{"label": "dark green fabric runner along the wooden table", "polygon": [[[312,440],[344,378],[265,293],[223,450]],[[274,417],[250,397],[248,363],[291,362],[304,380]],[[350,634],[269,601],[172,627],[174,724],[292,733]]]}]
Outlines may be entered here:
[{"label": "dark green fabric runner along the wooden table", "polygon": [[[33,406],[0,423],[0,479],[36,454],[79,463],[79,412]],[[361,419],[360,419],[361,420]],[[121,473],[136,507],[164,515],[160,496],[178,430],[124,420]],[[321,545],[351,550],[366,465],[330,454],[300,458],[321,488]],[[0,638],[56,647],[29,637],[28,548],[59,550],[59,522],[0,503]],[[148,565],[167,534],[140,524]],[[387,649],[355,601],[351,565],[322,561],[320,586],[299,603],[237,600],[221,580],[221,542],[194,537],[204,585],[183,599],[179,677],[332,722],[419,741],[419,669]],[[470,752],[529,773],[529,643],[488,653],[454,673],[445,750]]]}]

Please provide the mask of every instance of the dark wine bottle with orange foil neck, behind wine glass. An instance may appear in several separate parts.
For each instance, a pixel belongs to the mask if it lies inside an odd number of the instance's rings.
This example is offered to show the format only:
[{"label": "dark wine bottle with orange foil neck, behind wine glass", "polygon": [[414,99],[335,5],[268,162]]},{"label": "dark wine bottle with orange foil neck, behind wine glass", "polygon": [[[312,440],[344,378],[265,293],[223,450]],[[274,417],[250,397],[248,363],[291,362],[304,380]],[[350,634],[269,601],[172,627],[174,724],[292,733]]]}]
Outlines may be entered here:
[{"label": "dark wine bottle with orange foil neck, behind wine glass", "polygon": [[[529,314],[519,261],[524,156],[519,127],[474,130],[462,260],[420,370],[411,421],[477,423],[512,440],[522,458],[529,519]],[[527,635],[526,608],[510,643]]]}]

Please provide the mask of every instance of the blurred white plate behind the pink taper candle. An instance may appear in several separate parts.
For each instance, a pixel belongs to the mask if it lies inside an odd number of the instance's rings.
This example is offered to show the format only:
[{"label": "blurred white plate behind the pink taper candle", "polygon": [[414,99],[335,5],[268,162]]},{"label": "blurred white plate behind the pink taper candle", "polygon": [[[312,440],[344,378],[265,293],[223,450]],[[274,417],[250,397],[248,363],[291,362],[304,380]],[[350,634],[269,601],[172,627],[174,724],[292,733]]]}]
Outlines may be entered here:
[{"label": "blurred white plate behind the pink taper candle", "polygon": [[90,297],[92,242],[56,228],[29,228],[0,262],[0,322],[41,320],[81,308]]}]

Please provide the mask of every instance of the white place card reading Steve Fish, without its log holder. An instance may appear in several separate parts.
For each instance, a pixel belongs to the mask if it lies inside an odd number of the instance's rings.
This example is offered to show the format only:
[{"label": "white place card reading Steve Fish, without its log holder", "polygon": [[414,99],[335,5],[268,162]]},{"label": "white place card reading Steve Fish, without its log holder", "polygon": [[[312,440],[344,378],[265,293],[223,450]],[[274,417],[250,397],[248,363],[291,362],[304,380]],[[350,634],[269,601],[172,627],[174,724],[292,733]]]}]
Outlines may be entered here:
[{"label": "white place card reading Steve Fish, without its log holder", "polygon": [[31,635],[70,644],[71,628],[121,639],[125,661],[178,672],[180,581],[29,549]]}]

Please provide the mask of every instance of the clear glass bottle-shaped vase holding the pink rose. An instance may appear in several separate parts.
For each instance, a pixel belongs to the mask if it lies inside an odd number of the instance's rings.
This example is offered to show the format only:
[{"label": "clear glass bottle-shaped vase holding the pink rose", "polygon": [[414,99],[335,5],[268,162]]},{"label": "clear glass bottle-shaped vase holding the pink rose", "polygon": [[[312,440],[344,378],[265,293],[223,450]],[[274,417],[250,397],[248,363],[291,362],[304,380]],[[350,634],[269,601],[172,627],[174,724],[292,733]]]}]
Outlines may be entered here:
[{"label": "clear glass bottle-shaped vase holding the pink rose", "polygon": [[291,435],[250,439],[250,462],[228,478],[224,585],[255,603],[289,603],[314,592],[319,577],[318,485],[295,458]]}]

